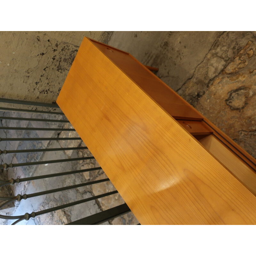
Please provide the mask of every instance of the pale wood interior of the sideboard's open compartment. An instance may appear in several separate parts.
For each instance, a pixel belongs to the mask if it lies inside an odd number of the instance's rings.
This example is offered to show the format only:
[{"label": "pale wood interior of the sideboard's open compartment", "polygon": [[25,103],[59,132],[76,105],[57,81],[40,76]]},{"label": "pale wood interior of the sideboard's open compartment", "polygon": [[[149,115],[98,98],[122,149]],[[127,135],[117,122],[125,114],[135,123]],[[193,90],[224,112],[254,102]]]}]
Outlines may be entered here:
[{"label": "pale wood interior of the sideboard's open compartment", "polygon": [[199,142],[207,148],[230,172],[232,172],[246,187],[256,195],[256,172],[244,164],[236,155],[225,147],[213,135],[199,139]]}]

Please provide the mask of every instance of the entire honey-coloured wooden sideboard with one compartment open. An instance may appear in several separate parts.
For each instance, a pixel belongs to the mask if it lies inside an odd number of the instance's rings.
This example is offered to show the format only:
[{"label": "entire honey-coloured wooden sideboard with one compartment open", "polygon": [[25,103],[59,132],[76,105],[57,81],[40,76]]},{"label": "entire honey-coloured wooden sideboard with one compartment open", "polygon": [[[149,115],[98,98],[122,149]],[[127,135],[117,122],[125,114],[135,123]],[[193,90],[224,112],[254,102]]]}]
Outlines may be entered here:
[{"label": "entire honey-coloured wooden sideboard with one compartment open", "polygon": [[57,103],[141,224],[256,223],[256,160],[129,53],[84,37]]}]

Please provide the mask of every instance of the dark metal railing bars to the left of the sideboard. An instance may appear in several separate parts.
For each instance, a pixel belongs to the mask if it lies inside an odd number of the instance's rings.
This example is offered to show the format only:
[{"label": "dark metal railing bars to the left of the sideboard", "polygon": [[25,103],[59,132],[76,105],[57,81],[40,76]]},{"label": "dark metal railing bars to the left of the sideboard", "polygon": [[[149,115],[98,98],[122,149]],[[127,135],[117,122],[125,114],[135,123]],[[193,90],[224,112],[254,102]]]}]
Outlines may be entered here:
[{"label": "dark metal railing bars to the left of the sideboard", "polygon": [[[11,99],[0,99],[0,102],[4,103],[11,103],[11,104],[22,104],[22,105],[30,105],[30,106],[41,106],[41,107],[47,107],[47,108],[59,108],[59,106],[54,103],[42,103],[42,102],[33,102],[33,101],[24,101],[24,100],[11,100]],[[12,111],[12,112],[28,112],[28,113],[40,113],[40,114],[56,114],[56,115],[63,115],[62,112],[56,112],[56,111],[43,111],[43,110],[33,110],[33,109],[24,109],[24,108],[9,108],[9,107],[0,107],[0,111]],[[40,121],[40,122],[58,122],[58,123],[68,123],[68,120],[59,120],[59,119],[42,119],[42,118],[20,118],[20,117],[5,117],[0,116],[0,119],[5,120],[26,120],[26,121]],[[44,131],[75,131],[75,129],[64,129],[64,128],[30,128],[30,127],[0,127],[0,130],[44,130]],[[0,141],[42,141],[42,140],[81,140],[80,137],[75,138],[0,138]],[[39,149],[21,149],[21,150],[0,150],[0,155],[3,154],[22,154],[22,153],[33,153],[33,152],[47,152],[47,151],[60,151],[60,150],[80,150],[80,149],[88,149],[87,147],[66,147],[66,148],[39,148]],[[26,163],[18,163],[18,164],[1,164],[0,170],[7,170],[8,168],[16,168],[20,166],[29,166],[29,165],[38,165],[38,164],[52,164],[52,163],[61,163],[61,162],[69,162],[69,161],[79,161],[79,160],[87,160],[87,159],[93,159],[93,156],[87,156],[87,157],[76,157],[76,158],[68,158],[68,159],[56,159],[56,160],[48,160],[48,161],[36,161],[36,162],[26,162]],[[26,177],[26,178],[12,178],[10,180],[0,180],[0,188],[4,186],[14,185],[16,183],[20,182],[26,182],[26,181],[32,181],[32,180],[39,180],[39,179],[49,179],[52,177],[58,177],[63,175],[72,175],[76,173],[82,173],[82,172],[93,172],[93,171],[99,171],[101,170],[101,167],[94,167],[94,168],[87,168],[83,170],[75,170],[75,171],[68,171],[68,172],[60,172],[60,173],[53,173],[53,174],[46,174],[46,175],[39,175],[34,177]],[[33,194],[23,194],[23,195],[16,195],[16,196],[5,196],[0,197],[0,200],[4,201],[2,204],[0,204],[0,210],[15,201],[21,201],[26,200],[28,198],[36,197],[36,196],[42,196],[50,193],[56,193],[60,191],[65,191],[68,189],[74,189],[84,186],[93,185],[96,183],[101,182],[107,182],[109,181],[108,178],[101,179],[101,180],[94,180],[94,181],[88,181],[81,184],[66,186],[62,188],[54,188],[50,190],[40,191]],[[91,200],[96,200],[105,196],[110,196],[113,194],[118,193],[116,190],[104,193],[97,196],[92,196],[86,199],[78,200],[72,203],[68,204],[62,204],[56,207],[52,207],[49,209],[45,209],[38,212],[31,212],[31,213],[25,213],[24,215],[20,216],[5,216],[0,214],[0,218],[2,219],[9,219],[9,220],[16,220],[12,223],[12,225],[15,225],[16,223],[22,221],[22,220],[29,220],[30,218],[35,218],[36,216],[39,216],[41,214],[57,211],[66,207],[70,207],[76,204],[81,204],[84,202],[88,202]],[[82,224],[100,224],[102,222],[111,220],[113,218],[116,218],[117,216],[123,215],[127,212],[130,212],[131,210],[127,206],[127,204],[122,204],[119,206],[116,206],[114,208],[111,208],[107,211],[96,213],[92,216],[83,218],[81,220],[77,220],[71,223],[68,223],[68,225],[82,225]]]}]

